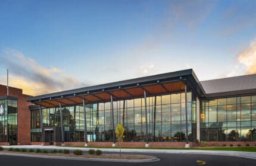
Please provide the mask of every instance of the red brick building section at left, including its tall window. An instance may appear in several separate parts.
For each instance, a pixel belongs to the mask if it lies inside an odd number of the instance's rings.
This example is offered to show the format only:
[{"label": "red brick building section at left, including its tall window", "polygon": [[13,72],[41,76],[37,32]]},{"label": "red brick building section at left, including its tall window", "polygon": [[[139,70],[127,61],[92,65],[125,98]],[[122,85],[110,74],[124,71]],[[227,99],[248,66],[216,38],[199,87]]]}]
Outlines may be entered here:
[{"label": "red brick building section at left, including its tall window", "polygon": [[18,88],[0,85],[0,145],[30,144],[30,95]]}]

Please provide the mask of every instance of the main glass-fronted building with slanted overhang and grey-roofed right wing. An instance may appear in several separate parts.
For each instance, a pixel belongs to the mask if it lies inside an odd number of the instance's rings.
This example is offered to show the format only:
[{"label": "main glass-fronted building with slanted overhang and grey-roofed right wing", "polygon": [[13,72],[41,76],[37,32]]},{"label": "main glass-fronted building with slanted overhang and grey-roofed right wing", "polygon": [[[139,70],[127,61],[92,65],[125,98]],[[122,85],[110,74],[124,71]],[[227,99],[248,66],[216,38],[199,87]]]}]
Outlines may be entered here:
[{"label": "main glass-fronted building with slanted overhang and grey-roofed right wing", "polygon": [[200,82],[187,69],[28,97],[27,141],[112,146],[113,129],[123,123],[122,146],[255,145],[255,82],[256,74]]}]

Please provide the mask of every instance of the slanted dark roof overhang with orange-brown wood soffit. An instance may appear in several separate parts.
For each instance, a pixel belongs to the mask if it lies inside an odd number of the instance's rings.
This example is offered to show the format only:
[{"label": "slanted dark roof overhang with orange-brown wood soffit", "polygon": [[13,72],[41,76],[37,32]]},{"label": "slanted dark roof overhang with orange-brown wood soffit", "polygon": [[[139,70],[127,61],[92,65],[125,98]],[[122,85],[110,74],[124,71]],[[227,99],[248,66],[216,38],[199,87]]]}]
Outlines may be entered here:
[{"label": "slanted dark roof overhang with orange-brown wood soffit", "polygon": [[59,107],[82,104],[109,102],[111,95],[113,100],[124,100],[129,98],[143,97],[144,91],[149,96],[180,92],[185,90],[188,84],[196,95],[204,97],[201,84],[192,69],[170,72],[142,78],[129,79],[125,81],[112,82],[108,84],[95,85],[92,87],[79,88],[52,94],[29,97],[27,101],[43,107]]}]

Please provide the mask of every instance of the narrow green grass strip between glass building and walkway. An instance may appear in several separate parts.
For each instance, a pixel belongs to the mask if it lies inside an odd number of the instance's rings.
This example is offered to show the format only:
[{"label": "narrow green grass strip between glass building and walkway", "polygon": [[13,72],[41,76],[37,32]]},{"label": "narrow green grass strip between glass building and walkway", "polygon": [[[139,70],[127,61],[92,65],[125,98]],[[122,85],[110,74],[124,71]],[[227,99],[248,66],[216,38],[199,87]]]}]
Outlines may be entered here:
[{"label": "narrow green grass strip between glass building and walkway", "polygon": [[[119,147],[105,147],[105,146],[66,146],[66,147],[79,147],[79,148],[113,148],[119,149]],[[243,152],[256,152],[256,146],[251,147],[195,147],[195,148],[145,148],[145,147],[122,147],[121,149],[172,149],[172,150],[205,150],[205,151],[243,151]]]}]

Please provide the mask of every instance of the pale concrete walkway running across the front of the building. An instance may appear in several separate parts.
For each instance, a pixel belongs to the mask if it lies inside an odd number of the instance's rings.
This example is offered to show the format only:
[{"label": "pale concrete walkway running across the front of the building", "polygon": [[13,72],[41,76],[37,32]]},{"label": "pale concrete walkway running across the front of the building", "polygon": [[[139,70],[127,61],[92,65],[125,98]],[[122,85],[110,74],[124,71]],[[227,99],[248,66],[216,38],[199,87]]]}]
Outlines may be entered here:
[{"label": "pale concrete walkway running across the front of the building", "polygon": [[[113,148],[79,148],[79,147],[61,147],[61,146],[40,146],[40,145],[13,145],[2,146],[4,149],[8,148],[25,148],[25,149],[80,149],[88,151],[89,149],[100,149],[102,152],[119,152],[119,149]],[[238,151],[204,151],[204,150],[179,150],[179,149],[121,149],[122,152],[132,153],[164,153],[164,154],[206,154],[206,155],[225,155],[233,157],[243,157],[256,159],[256,152],[238,152]]]}]

